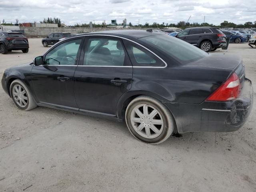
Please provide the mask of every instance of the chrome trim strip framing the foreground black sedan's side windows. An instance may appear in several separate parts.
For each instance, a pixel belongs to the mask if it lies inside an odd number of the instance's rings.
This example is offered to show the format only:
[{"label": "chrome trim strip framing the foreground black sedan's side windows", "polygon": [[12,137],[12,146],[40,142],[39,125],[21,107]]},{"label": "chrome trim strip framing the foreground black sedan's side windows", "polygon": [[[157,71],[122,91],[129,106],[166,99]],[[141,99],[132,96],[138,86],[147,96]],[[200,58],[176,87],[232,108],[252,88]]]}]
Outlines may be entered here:
[{"label": "chrome trim strip framing the foreground black sedan's side windows", "polygon": [[[152,52],[150,49],[144,47],[143,45],[141,45],[141,44],[139,44],[139,43],[137,43],[137,42],[135,42],[135,41],[133,41],[133,40],[130,40],[130,39],[128,39],[128,38],[124,38],[124,37],[120,37],[120,36],[115,36],[115,35],[102,35],[102,34],[93,34],[93,35],[92,35],[92,34],[90,34],[90,35],[88,34],[88,35],[86,35],[86,34],[85,34],[85,35],[81,35],[81,36],[70,37],[70,38],[68,38],[67,40],[72,39],[72,38],[78,38],[78,37],[86,37],[86,36],[108,36],[108,37],[116,37],[116,38],[121,38],[121,39],[128,40],[128,41],[133,42],[133,43],[135,43],[135,44],[141,46],[142,48],[148,50],[149,52],[151,52],[154,56],[156,56],[158,59],[160,59],[160,60],[161,60],[162,62],[164,62],[164,64],[165,64],[165,66],[156,66],[156,67],[154,67],[154,66],[103,66],[103,67],[134,67],[134,68],[166,68],[166,67],[167,67],[167,63],[166,63],[162,58],[160,58],[160,56],[158,56],[157,54],[155,54],[154,52]],[[50,49],[52,49],[52,48],[54,48],[55,46],[57,46],[60,42],[63,42],[63,43],[64,43],[64,41],[59,41],[59,42],[57,42],[56,44],[54,44]],[[49,49],[49,50],[50,50],[50,49]],[[48,52],[49,50],[47,50],[46,52]],[[44,54],[46,54],[46,52],[45,52]],[[44,55],[44,54],[43,54],[43,55]],[[49,65],[48,65],[48,66],[49,66]],[[102,66],[99,66],[99,65],[96,65],[96,66],[92,66],[92,65],[77,65],[77,66],[102,67]]]}]

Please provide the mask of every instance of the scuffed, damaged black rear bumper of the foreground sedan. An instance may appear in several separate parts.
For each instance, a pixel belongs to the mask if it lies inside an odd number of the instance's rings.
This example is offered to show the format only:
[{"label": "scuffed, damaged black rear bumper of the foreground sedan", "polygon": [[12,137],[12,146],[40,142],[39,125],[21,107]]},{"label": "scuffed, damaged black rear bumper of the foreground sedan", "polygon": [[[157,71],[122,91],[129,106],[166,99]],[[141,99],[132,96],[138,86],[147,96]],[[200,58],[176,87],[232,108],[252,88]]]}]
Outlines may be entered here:
[{"label": "scuffed, damaged black rear bumper of the foreground sedan", "polygon": [[246,79],[240,97],[229,102],[165,104],[173,112],[179,133],[233,132],[244,125],[252,110],[252,82]]}]

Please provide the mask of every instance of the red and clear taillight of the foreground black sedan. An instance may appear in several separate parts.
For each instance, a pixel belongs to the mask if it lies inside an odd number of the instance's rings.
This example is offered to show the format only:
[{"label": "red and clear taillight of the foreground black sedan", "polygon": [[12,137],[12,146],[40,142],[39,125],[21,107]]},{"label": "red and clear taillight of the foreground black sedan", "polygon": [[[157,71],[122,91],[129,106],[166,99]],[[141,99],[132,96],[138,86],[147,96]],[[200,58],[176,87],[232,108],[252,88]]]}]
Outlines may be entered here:
[{"label": "red and clear taillight of the foreground black sedan", "polygon": [[233,73],[206,101],[230,101],[238,98],[240,92],[240,79],[236,73]]}]

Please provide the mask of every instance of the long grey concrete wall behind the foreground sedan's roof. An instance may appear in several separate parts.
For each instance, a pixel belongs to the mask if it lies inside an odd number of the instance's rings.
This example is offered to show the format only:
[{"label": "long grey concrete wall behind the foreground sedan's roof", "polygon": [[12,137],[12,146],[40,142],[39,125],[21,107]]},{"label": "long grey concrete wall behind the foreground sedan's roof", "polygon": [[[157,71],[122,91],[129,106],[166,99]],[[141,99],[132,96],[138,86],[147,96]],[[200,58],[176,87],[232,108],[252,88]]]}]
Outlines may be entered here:
[{"label": "long grey concrete wall behind the foreground sedan's roof", "polygon": [[[20,30],[24,30],[25,36],[32,37],[46,37],[53,32],[70,32],[72,34],[84,33],[84,32],[97,32],[104,30],[123,30],[129,28],[89,28],[89,27],[20,27]],[[141,29],[141,28],[130,28]],[[144,29],[145,30],[145,29]]]}]

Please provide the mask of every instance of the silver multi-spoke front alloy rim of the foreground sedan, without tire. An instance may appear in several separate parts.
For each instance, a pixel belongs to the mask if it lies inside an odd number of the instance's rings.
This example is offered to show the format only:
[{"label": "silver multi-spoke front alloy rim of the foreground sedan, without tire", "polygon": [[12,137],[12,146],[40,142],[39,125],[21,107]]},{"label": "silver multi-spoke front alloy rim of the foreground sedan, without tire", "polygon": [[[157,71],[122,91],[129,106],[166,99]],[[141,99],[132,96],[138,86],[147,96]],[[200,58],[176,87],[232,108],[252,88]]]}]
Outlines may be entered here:
[{"label": "silver multi-spoke front alloy rim of the foreground sedan, without tire", "polygon": [[14,98],[15,103],[21,108],[28,105],[27,93],[21,85],[15,84],[12,87],[12,97]]}]

